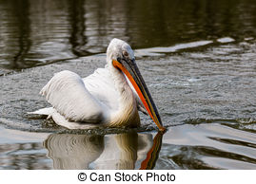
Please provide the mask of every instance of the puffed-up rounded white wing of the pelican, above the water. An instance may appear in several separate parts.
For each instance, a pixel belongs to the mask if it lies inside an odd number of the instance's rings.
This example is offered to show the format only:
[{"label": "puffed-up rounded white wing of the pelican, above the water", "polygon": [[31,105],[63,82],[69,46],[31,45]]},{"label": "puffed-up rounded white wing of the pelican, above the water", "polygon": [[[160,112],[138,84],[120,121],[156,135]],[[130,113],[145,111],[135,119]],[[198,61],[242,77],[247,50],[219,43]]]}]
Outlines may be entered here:
[{"label": "puffed-up rounded white wing of the pelican, above the water", "polygon": [[103,120],[103,106],[89,93],[83,80],[71,71],[56,73],[40,94],[67,120]]}]

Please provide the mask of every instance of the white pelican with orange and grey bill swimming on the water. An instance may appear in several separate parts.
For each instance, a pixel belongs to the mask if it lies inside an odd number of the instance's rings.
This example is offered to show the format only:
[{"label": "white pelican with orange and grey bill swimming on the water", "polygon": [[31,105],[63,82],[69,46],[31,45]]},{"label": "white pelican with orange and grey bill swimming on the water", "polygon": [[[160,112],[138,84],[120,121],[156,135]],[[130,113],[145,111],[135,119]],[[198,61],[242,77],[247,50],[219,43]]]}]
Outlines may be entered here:
[{"label": "white pelican with orange and grey bill swimming on the water", "polygon": [[161,131],[165,130],[133,50],[120,39],[111,40],[104,68],[84,79],[68,70],[56,73],[40,94],[52,107],[33,114],[49,115],[57,124],[70,129],[88,124],[139,126],[140,110],[148,113]]}]

